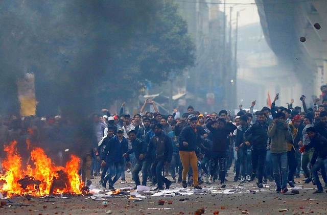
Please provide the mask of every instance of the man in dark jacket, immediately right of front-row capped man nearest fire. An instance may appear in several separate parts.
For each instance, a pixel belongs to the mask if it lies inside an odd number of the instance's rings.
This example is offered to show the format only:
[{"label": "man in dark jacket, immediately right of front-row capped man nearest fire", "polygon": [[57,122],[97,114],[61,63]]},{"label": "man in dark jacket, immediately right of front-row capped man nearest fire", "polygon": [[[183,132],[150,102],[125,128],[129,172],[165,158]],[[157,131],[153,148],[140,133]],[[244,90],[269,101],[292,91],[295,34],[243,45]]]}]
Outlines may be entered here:
[{"label": "man in dark jacket, immediately right of front-row capped man nearest fire", "polygon": [[137,159],[136,164],[134,165],[134,168],[132,170],[132,179],[135,181],[135,187],[137,188],[137,185],[141,185],[141,182],[139,181],[138,173],[142,170],[142,185],[147,185],[147,178],[148,178],[148,165],[143,165],[145,162],[147,162],[148,159],[145,159],[145,155],[147,153],[147,147],[148,145],[141,139],[136,138],[136,131],[131,130],[128,132],[129,140],[132,144],[132,149],[128,150],[125,154],[123,154],[124,157],[127,157],[128,155],[134,153],[135,158]]}]

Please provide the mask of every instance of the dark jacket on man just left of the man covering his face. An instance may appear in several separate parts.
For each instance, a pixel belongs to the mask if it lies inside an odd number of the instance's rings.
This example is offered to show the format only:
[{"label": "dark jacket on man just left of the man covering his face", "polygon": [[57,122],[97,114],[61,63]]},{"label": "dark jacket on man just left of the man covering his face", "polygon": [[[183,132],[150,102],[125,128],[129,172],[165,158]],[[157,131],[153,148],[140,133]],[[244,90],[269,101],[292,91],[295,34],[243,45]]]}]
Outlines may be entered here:
[{"label": "dark jacket on man just left of the man covering his face", "polygon": [[245,131],[244,139],[250,142],[252,149],[267,149],[268,127],[267,121],[263,124],[256,121]]}]

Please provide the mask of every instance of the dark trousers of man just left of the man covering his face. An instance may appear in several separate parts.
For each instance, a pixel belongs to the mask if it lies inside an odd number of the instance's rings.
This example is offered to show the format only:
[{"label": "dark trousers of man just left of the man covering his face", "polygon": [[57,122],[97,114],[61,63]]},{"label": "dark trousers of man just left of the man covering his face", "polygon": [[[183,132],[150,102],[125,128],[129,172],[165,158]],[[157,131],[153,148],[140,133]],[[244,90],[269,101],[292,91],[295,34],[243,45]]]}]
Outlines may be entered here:
[{"label": "dark trousers of man just left of the man covering his face", "polygon": [[258,172],[258,183],[262,183],[262,177],[264,174],[264,166],[266,161],[266,149],[252,149],[251,161],[252,161],[252,173]]}]

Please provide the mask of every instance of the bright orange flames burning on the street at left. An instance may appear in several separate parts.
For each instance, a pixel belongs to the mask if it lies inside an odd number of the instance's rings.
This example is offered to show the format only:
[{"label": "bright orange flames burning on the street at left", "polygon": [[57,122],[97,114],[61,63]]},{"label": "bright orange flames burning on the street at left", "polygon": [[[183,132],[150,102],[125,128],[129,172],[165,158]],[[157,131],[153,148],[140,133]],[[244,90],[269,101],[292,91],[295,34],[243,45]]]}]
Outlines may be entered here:
[{"label": "bright orange flames burning on the street at left", "polygon": [[[58,193],[74,192],[81,194],[81,183],[78,170],[80,159],[71,155],[71,160],[66,163],[65,168],[56,166],[52,163],[51,159],[45,155],[43,149],[35,148],[31,152],[31,160],[34,162],[33,168],[31,165],[27,166],[26,170],[21,168],[21,157],[16,149],[17,141],[12,142],[10,145],[5,146],[7,158],[3,160],[3,169],[5,173],[0,174],[0,180],[5,181],[0,192],[7,192],[7,196],[31,194],[34,196],[48,195],[51,190],[51,185],[54,179],[59,179],[58,171],[67,175],[68,181],[64,181],[64,187],[56,189]],[[27,187],[23,187],[18,180],[30,176],[33,181]]]}]

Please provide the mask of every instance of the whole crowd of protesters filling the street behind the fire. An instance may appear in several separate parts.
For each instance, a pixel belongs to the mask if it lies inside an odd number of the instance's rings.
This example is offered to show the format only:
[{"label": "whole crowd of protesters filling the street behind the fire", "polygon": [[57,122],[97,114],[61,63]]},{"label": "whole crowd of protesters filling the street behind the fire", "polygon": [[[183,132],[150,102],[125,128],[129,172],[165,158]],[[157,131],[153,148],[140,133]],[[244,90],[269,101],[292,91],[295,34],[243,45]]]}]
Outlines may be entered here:
[{"label": "whole crowd of protesters filling the street behind the fire", "polygon": [[[176,114],[176,109],[173,114],[162,115],[149,100],[134,116],[124,113],[125,103],[119,114],[111,115],[103,109],[103,114],[92,115],[97,140],[91,152],[82,157],[82,179],[90,185],[91,179],[99,176],[103,187],[108,183],[108,188],[113,189],[119,179],[125,183],[125,173],[131,172],[135,188],[151,183],[161,190],[181,183],[184,188],[202,189],[201,184],[216,180],[224,188],[225,177],[233,167],[235,182],[256,180],[262,188],[268,180],[274,181],[276,192],[286,193],[288,186],[295,186],[294,177],[303,174],[303,183],[316,184],[314,194],[323,193],[327,188],[324,89],[327,87],[322,86],[321,105],[317,99],[313,107],[307,108],[306,97],[301,97],[303,111],[298,106],[293,108],[294,100],[287,107],[277,107],[279,94],[270,108],[254,112],[253,101],[249,111],[240,105],[235,116],[226,110],[203,114],[192,106],[181,115]],[[145,112],[148,105],[154,112]],[[37,143],[44,136],[58,146],[72,141],[66,139],[67,125],[69,122],[60,116],[25,117],[23,121],[12,116],[6,122],[0,117],[0,144],[12,140],[24,144],[26,138]],[[19,153],[26,156],[28,163],[26,150]],[[63,156],[58,150],[54,160],[62,163]],[[5,157],[4,153],[1,157]],[[169,175],[172,180],[167,178]]]}]

